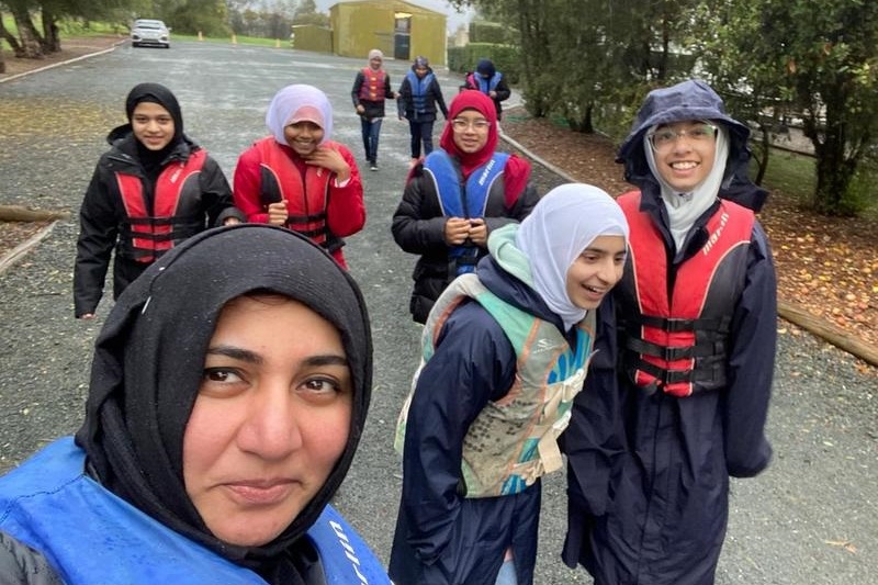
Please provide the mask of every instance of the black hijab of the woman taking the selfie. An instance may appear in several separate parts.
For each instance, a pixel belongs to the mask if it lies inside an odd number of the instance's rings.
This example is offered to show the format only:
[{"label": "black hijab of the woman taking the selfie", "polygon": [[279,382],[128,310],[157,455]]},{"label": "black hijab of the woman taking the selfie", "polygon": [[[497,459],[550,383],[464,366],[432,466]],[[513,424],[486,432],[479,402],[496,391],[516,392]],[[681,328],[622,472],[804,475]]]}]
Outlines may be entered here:
[{"label": "black hijab of the woman taking the selfie", "polygon": [[[309,306],[341,334],[353,381],[345,451],[293,522],[261,547],[214,537],[185,492],[183,432],[223,306],[252,291]],[[308,238],[268,225],[203,232],[150,266],[120,296],[95,342],[86,421],[76,442],[90,473],[116,495],[269,583],[303,583],[314,553],[302,536],[338,490],[371,397],[372,341],[353,279]],[[299,578],[296,576],[299,575]]]}]

